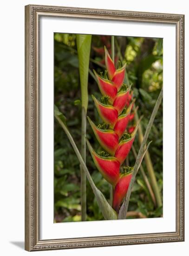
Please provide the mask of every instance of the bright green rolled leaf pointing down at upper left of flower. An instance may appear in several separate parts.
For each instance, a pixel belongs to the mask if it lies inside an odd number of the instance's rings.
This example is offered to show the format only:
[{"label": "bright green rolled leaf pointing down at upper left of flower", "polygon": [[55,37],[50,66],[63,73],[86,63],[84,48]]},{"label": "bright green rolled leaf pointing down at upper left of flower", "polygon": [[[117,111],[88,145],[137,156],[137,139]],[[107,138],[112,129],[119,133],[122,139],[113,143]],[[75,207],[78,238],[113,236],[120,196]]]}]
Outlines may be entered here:
[{"label": "bright green rolled leaf pointing down at upper left of flower", "polygon": [[79,75],[81,83],[81,102],[87,112],[88,106],[88,76],[89,76],[89,59],[91,51],[91,35],[77,34],[77,48],[79,59]]}]

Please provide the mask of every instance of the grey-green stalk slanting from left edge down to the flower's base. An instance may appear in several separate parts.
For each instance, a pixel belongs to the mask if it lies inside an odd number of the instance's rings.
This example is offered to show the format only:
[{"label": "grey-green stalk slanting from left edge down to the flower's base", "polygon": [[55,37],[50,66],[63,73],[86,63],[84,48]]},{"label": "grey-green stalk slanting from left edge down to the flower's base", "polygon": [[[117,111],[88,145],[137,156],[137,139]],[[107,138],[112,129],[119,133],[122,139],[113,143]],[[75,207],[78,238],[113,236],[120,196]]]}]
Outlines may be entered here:
[{"label": "grey-green stalk slanting from left edge down to the flower's base", "polygon": [[[104,219],[105,220],[116,220],[117,219],[117,213],[114,209],[112,209],[112,207],[110,206],[110,204],[106,201],[104,195],[102,194],[102,192],[97,189],[97,187],[95,186],[92,178],[91,178],[91,175],[85,165],[85,162],[81,156],[81,154],[79,153],[79,150],[75,144],[75,141],[73,140],[72,138],[72,135],[70,134],[68,128],[66,127],[66,124],[65,124],[65,117],[64,115],[59,111],[59,109],[55,106],[54,108],[54,116],[55,118],[57,119],[57,121],[59,122],[60,126],[64,129],[65,131],[65,134],[67,135],[77,157],[78,157],[78,160],[81,164],[81,167],[82,169],[85,171],[85,175],[91,185],[91,189],[94,193],[94,195],[96,196],[96,199],[97,199],[97,202],[98,202],[98,206],[100,208],[100,210],[102,211],[102,214],[104,216]],[[64,120],[64,121],[63,121]]]}]

